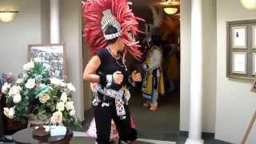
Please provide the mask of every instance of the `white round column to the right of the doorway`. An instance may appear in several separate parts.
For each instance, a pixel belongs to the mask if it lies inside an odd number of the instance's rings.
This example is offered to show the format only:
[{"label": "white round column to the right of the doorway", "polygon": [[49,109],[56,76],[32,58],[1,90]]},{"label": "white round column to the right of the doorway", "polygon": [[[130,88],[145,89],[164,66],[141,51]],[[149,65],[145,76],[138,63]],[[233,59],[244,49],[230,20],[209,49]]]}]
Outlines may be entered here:
[{"label": "white round column to the right of the doorway", "polygon": [[191,1],[190,130],[186,144],[202,140],[202,0]]}]

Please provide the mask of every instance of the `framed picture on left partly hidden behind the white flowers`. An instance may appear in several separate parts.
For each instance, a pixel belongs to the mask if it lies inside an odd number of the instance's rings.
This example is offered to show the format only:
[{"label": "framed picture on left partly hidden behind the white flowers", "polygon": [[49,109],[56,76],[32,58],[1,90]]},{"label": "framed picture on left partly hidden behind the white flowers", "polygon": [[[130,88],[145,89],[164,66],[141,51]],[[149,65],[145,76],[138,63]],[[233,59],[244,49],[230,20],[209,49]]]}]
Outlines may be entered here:
[{"label": "framed picture on left partly hidden behind the white flowers", "polygon": [[50,65],[50,75],[66,77],[66,52],[64,45],[29,45],[28,60],[40,60]]}]

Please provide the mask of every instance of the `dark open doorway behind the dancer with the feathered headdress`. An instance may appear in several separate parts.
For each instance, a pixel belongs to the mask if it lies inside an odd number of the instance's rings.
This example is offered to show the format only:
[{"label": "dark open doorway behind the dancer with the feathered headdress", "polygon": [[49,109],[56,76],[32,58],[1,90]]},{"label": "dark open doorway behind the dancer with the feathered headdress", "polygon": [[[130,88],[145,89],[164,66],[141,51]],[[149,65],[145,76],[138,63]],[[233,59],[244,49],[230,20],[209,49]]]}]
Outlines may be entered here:
[{"label": "dark open doorway behind the dancer with the feathered headdress", "polygon": [[[149,6],[150,4],[150,6]],[[166,7],[177,8],[175,14],[166,14],[163,11]],[[159,96],[159,107],[155,112],[144,108],[142,103],[142,83],[134,90],[130,90],[132,98],[130,98],[130,111],[137,126],[138,137],[146,139],[155,139],[161,141],[177,142],[179,134],[180,122],[180,90],[179,90],[179,42],[180,42],[180,15],[179,5],[172,6],[171,3],[162,0],[136,0],[130,5],[134,15],[141,17],[146,22],[140,23],[140,30],[145,34],[140,34],[137,38],[141,42],[145,60],[146,50],[144,50],[143,42],[145,38],[152,34],[157,34],[162,39],[162,72],[164,74],[165,95]],[[156,13],[156,14],[154,14]],[[83,65],[85,66],[90,59],[90,50],[86,43],[83,42]],[[128,56],[127,65],[130,70],[137,69],[142,72],[142,62]],[[84,82],[84,103],[85,103],[85,124],[84,127],[90,126],[92,120],[92,110],[90,109],[90,86]]]}]

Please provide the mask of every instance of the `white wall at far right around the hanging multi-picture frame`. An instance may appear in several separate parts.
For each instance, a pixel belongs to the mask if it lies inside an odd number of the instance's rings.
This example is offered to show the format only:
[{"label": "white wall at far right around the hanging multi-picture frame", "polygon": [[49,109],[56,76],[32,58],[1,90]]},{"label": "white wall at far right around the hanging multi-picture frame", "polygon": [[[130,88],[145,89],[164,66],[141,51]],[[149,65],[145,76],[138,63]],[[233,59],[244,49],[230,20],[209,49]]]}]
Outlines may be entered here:
[{"label": "white wall at far right around the hanging multi-picture frame", "polygon": [[[238,0],[217,0],[217,104],[215,137],[239,143],[254,114],[256,96],[250,80],[226,78],[226,22],[256,19],[256,10],[246,10]],[[254,126],[248,144],[256,143]]]}]

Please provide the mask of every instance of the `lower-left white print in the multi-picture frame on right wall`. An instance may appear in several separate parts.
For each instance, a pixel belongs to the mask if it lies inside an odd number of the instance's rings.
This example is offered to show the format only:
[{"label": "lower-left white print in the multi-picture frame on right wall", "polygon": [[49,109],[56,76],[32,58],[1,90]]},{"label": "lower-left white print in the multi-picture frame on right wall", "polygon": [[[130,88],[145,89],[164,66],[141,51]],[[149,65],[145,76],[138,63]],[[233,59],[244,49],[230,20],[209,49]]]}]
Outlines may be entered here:
[{"label": "lower-left white print in the multi-picture frame on right wall", "polygon": [[233,52],[233,69],[234,74],[246,74],[246,52]]}]

